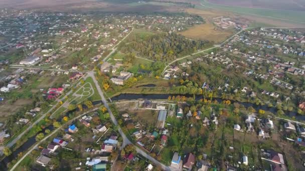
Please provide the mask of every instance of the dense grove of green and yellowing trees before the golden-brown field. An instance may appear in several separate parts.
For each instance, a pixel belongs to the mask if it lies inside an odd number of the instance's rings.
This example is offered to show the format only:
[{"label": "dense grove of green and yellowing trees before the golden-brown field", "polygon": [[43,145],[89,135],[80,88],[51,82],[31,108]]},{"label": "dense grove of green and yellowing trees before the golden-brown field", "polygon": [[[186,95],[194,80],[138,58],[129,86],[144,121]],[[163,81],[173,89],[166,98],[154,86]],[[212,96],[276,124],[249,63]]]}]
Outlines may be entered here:
[{"label": "dense grove of green and yellowing trees before the golden-brown field", "polygon": [[[135,36],[136,38],[136,36]],[[177,57],[191,54],[204,48],[208,41],[191,40],[176,33],[155,34],[144,39],[135,39],[121,48],[123,53],[136,55],[155,61],[172,61]]]}]

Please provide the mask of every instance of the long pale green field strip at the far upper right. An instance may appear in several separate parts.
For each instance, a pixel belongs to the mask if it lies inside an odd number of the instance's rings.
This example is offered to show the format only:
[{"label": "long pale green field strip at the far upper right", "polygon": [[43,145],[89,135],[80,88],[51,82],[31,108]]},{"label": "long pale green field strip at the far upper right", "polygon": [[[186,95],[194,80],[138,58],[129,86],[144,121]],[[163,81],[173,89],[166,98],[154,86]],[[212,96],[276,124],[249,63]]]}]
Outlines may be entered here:
[{"label": "long pale green field strip at the far upper right", "polygon": [[280,19],[294,23],[305,23],[305,11],[292,11],[280,9],[262,9],[262,8],[248,8],[238,6],[226,6],[220,4],[209,3],[207,0],[201,0],[202,5],[197,5],[198,8],[215,8],[221,10],[228,10],[232,12],[250,14],[256,16],[264,16],[273,19]]}]

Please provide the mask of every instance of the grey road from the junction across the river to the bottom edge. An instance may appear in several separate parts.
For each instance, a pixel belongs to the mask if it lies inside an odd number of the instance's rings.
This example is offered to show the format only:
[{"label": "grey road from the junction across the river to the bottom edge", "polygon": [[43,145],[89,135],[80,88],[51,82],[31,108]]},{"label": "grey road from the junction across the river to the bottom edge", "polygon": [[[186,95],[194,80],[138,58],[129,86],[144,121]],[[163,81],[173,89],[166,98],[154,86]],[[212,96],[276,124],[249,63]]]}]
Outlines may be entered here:
[{"label": "grey road from the junction across the river to the bottom edge", "polygon": [[[117,124],[117,121],[106,101],[106,98],[104,97],[103,91],[101,89],[101,87],[99,86],[95,76],[94,76],[94,72],[90,71],[88,72],[88,76],[91,76],[93,79],[93,82],[95,83],[96,89],[99,93],[99,95],[101,96],[102,102],[104,104],[104,106],[107,108],[108,113],[110,115],[110,118],[112,120],[112,122],[118,126],[118,132],[121,134],[122,138],[123,138],[123,143],[121,147],[124,147],[127,144],[132,144],[132,142],[130,142],[130,140],[126,137],[125,133],[122,131],[122,129],[119,127],[119,125]],[[135,145],[134,145],[135,146]],[[138,152],[139,154],[143,155],[145,158],[149,159],[150,161],[154,162],[156,165],[160,166],[162,169],[164,170],[171,170],[169,166],[159,162],[158,160],[156,160],[154,157],[151,157],[150,155],[148,155],[145,151],[143,151],[142,149],[138,148],[137,146],[135,146],[136,152]]]}]

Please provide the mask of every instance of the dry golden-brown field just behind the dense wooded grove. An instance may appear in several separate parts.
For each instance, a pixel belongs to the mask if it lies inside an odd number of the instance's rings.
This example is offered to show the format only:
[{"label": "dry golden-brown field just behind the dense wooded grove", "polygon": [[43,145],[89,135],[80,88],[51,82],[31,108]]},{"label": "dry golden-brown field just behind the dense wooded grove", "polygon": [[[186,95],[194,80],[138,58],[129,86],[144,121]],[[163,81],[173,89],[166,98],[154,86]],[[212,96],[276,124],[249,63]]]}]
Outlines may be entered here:
[{"label": "dry golden-brown field just behind the dense wooded grove", "polygon": [[181,32],[181,34],[192,39],[209,40],[220,43],[230,37],[233,34],[233,30],[220,30],[212,23],[205,23],[195,25],[188,30]]}]

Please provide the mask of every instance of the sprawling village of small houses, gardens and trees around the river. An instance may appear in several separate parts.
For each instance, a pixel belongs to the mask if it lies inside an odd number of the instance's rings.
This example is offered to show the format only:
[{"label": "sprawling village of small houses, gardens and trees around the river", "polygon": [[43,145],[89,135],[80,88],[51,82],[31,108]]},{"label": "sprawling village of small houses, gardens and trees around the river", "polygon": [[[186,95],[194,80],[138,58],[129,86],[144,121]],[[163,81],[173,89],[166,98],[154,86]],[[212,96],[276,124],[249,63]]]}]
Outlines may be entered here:
[{"label": "sprawling village of small houses, gardens and trees around the river", "polygon": [[[2,13],[2,169],[303,169],[302,32],[220,17],[239,32],[212,44],[179,34],[191,14]],[[143,55],[162,38],[186,48]]]}]

